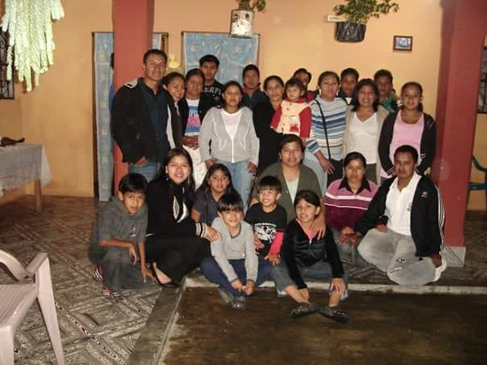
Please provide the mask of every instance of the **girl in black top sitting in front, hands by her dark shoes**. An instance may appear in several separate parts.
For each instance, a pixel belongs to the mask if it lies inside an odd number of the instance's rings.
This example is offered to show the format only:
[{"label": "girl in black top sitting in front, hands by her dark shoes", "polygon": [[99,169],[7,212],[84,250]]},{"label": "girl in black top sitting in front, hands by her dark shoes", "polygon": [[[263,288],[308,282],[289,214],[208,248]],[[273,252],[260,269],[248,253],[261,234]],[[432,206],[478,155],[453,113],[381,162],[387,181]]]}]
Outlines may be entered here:
[{"label": "girl in black top sitting in front, hands by her dark shoes", "polygon": [[[272,272],[275,285],[298,302],[298,307],[290,313],[292,317],[319,312],[336,322],[345,323],[348,315],[338,305],[346,295],[346,275],[333,233],[327,228],[325,237],[317,239],[311,232],[314,219],[320,213],[320,197],[311,190],[301,190],[294,200],[294,208],[296,219],[290,221],[284,232],[283,262],[274,266]],[[328,306],[318,306],[310,301],[304,278],[330,282]]]}]

